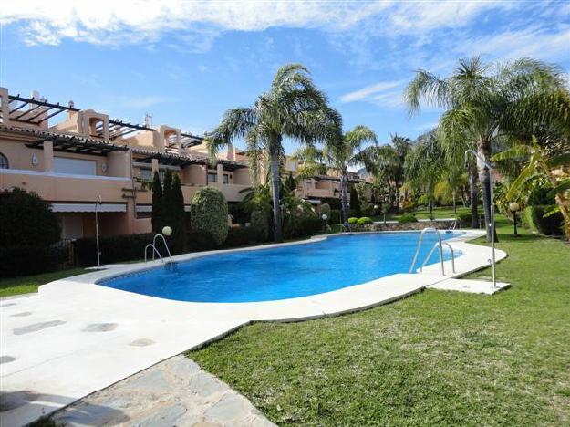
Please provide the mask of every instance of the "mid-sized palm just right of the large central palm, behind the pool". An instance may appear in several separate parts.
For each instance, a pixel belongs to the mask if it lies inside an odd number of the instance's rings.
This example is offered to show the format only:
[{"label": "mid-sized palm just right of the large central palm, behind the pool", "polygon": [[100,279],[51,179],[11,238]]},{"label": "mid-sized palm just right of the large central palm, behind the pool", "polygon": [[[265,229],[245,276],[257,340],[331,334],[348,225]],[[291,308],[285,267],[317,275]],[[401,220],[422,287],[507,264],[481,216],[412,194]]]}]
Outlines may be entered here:
[{"label": "mid-sized palm just right of the large central palm, behind the pool", "polygon": [[[363,147],[369,142],[373,143],[373,145]],[[377,148],[377,143],[374,130],[358,125],[345,134],[337,131],[328,132],[328,138],[326,138],[322,150],[308,147],[296,153],[296,157],[304,161],[304,168],[307,171],[318,171],[324,165],[326,168],[331,168],[338,172],[340,175],[343,221],[347,221],[349,216],[348,168],[361,163],[364,163],[365,166],[371,164],[373,149]]]}]

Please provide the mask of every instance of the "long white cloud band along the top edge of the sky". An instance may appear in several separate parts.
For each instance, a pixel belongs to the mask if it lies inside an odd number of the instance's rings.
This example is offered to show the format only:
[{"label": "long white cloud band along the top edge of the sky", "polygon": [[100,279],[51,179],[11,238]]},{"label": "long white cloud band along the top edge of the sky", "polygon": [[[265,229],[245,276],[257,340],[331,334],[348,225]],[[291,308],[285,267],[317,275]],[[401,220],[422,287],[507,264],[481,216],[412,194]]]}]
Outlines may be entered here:
[{"label": "long white cloud band along the top edge of the sky", "polygon": [[[420,34],[468,24],[483,11],[511,5],[498,1],[335,2],[27,0],[4,2],[0,22],[20,23],[27,44],[57,45],[64,38],[94,44],[155,41],[164,34],[204,50],[224,30],[262,31],[271,26],[330,32],[381,31]],[[366,24],[366,25],[365,25]]]}]

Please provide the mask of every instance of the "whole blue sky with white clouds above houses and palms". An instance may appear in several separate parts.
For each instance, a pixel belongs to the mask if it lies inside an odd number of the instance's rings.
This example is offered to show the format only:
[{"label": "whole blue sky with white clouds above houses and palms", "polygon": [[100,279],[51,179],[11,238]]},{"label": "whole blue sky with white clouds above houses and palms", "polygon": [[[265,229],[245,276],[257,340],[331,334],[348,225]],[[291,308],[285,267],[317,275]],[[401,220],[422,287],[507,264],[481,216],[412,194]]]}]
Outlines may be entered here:
[{"label": "whole blue sky with white clouds above houses and palms", "polygon": [[[343,115],[381,142],[430,130],[401,93],[414,69],[459,57],[536,57],[570,70],[570,2],[2,2],[0,86],[111,118],[202,134],[301,62]],[[240,145],[239,143],[237,145]],[[287,142],[287,151],[295,145]]]}]

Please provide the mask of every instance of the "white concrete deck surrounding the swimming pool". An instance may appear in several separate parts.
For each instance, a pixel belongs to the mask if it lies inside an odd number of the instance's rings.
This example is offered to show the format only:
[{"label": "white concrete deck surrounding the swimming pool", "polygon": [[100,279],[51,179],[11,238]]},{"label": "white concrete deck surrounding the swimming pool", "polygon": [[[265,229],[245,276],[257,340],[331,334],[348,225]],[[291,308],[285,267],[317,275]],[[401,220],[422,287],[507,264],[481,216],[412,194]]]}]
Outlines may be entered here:
[{"label": "white concrete deck surrounding the swimming pool", "polygon": [[[153,265],[140,263],[57,280],[41,286],[35,296],[2,300],[0,379],[4,401],[9,405],[5,407],[3,402],[0,423],[16,426],[31,422],[252,321],[303,320],[357,311],[487,266],[490,248],[466,243],[479,235],[482,233],[470,231],[448,240],[462,252],[455,262],[455,275],[451,275],[451,261],[447,261],[448,276],[441,276],[436,264],[425,267],[420,274],[382,277],[308,297],[255,303],[192,303],[94,284],[102,278]],[[269,247],[275,245],[247,250]],[[231,251],[208,254],[218,252]],[[203,255],[174,258],[181,261]],[[497,260],[505,256],[497,251]]]}]

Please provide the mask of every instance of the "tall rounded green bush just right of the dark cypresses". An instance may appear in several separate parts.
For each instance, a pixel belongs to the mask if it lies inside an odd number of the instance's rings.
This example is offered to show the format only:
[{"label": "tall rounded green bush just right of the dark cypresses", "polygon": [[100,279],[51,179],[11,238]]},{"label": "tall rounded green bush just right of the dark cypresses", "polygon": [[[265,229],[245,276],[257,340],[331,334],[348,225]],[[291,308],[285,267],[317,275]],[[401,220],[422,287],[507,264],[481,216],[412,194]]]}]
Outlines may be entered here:
[{"label": "tall rounded green bush just right of the dark cypresses", "polygon": [[190,210],[192,230],[207,231],[216,245],[222,245],[228,235],[228,203],[223,193],[202,188],[192,199]]}]

